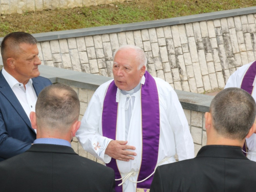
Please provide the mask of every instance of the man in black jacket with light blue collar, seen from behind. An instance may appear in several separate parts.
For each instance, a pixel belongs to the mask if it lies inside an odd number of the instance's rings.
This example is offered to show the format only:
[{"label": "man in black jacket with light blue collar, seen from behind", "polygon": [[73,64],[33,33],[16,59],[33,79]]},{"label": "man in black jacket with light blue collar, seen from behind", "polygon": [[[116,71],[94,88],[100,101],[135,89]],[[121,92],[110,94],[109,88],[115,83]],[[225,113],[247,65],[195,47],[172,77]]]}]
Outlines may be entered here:
[{"label": "man in black jacket with light blue collar, seen from behind", "polygon": [[71,148],[79,107],[70,87],[54,84],[41,91],[30,114],[37,139],[25,153],[0,163],[1,191],[115,191],[113,169]]}]

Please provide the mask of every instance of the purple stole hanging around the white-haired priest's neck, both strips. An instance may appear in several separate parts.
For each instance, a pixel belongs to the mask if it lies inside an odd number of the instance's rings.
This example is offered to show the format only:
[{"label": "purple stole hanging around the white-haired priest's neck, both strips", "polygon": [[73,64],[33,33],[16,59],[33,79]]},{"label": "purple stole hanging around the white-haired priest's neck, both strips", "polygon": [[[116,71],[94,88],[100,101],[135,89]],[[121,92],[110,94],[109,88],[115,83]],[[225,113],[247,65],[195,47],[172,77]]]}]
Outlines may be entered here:
[{"label": "purple stole hanging around the white-haired priest's neck, both strips", "polygon": [[[156,81],[147,71],[144,76],[145,83],[141,85],[142,161],[137,181],[145,179],[154,172],[158,159],[160,134],[159,99]],[[112,81],[106,92],[102,111],[102,134],[104,137],[114,140],[116,140],[118,112],[116,93],[117,87],[115,82]],[[116,159],[112,158],[106,166],[113,168],[115,170],[115,178],[120,179],[121,175],[116,161]],[[137,183],[137,188],[142,190],[149,189],[152,180],[153,176],[141,183]],[[116,181],[115,190],[117,192],[122,191],[122,186],[118,186],[120,183],[120,180]]]}]

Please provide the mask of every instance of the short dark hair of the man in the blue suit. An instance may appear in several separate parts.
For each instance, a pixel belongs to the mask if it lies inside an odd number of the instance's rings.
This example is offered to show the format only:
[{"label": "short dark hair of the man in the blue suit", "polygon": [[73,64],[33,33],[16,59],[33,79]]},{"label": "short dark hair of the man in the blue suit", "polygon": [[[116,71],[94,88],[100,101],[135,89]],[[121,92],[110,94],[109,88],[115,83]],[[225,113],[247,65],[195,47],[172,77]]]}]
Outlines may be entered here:
[{"label": "short dark hair of the man in the blue suit", "polygon": [[3,62],[10,56],[14,56],[20,44],[34,45],[37,43],[35,37],[25,32],[13,32],[6,35],[1,43],[1,55]]}]

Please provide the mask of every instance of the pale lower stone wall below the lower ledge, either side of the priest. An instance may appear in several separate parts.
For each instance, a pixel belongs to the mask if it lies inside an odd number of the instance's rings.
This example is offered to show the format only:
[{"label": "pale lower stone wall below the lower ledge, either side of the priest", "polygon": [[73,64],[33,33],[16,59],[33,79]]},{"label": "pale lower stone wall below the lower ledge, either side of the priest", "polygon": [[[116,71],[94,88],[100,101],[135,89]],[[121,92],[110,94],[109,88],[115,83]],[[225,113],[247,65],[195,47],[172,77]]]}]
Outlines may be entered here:
[{"label": "pale lower stone wall below the lower ledge, either side of the priest", "polygon": [[[72,86],[71,86],[72,87]],[[80,89],[77,87],[72,87],[76,93],[78,94],[79,100],[80,100],[80,117],[79,120],[82,119],[84,112],[87,109],[87,104],[91,100],[93,94],[95,91],[88,90],[88,89]],[[187,122],[189,125],[189,130],[191,132],[191,135],[194,140],[194,146],[195,146],[195,156],[197,155],[200,148],[204,145],[206,145],[206,131],[205,131],[205,120],[204,120],[204,113],[202,112],[196,112],[191,110],[184,109],[184,113],[187,118]],[[72,148],[74,151],[82,156],[89,158],[93,161],[97,161],[101,164],[104,164],[102,161],[98,160],[94,156],[92,156],[90,153],[83,150],[82,146],[78,142],[77,138],[74,137],[73,141],[71,143]]]}]

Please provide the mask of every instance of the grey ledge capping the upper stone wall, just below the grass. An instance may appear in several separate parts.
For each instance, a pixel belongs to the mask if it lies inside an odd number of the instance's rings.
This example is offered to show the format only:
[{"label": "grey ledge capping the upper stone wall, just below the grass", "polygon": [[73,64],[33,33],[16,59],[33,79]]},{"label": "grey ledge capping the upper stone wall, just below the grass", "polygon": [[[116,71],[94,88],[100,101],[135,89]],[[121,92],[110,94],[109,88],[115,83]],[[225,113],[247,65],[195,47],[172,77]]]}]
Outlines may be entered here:
[{"label": "grey ledge capping the upper stone wall, just below the grass", "polygon": [[[141,29],[148,29],[148,28],[155,28],[155,27],[172,26],[177,24],[200,22],[202,20],[211,20],[211,19],[245,15],[245,14],[251,14],[251,13],[256,13],[256,7],[232,9],[232,10],[217,11],[217,12],[211,12],[211,13],[202,13],[197,15],[152,20],[148,22],[139,22],[139,23],[132,23],[132,24],[121,24],[121,25],[92,27],[92,28],[83,28],[83,29],[66,30],[66,31],[36,33],[36,34],[33,34],[33,36],[38,41],[48,41],[48,40],[63,39],[63,38],[100,35],[100,34],[106,34],[106,33],[117,33],[122,31],[133,31],[133,30],[141,30]],[[3,37],[0,38],[0,43],[2,42],[2,40],[3,40]]]}]

